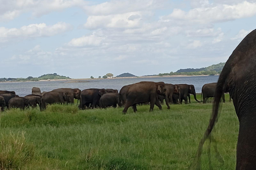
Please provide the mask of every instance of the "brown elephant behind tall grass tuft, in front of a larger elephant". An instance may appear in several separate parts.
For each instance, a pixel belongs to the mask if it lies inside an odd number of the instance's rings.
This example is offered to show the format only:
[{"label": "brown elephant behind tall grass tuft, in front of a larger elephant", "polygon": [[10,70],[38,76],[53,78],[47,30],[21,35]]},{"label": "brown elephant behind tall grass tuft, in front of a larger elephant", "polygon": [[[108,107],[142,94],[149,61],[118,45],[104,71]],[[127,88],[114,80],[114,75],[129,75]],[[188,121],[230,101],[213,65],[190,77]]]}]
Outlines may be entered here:
[{"label": "brown elephant behind tall grass tuft, in front of a larger elephant", "polygon": [[45,93],[41,98],[40,103],[40,110],[43,111],[48,104],[54,104],[54,103],[72,103],[72,99],[70,95],[67,95],[66,92],[47,92]]}]

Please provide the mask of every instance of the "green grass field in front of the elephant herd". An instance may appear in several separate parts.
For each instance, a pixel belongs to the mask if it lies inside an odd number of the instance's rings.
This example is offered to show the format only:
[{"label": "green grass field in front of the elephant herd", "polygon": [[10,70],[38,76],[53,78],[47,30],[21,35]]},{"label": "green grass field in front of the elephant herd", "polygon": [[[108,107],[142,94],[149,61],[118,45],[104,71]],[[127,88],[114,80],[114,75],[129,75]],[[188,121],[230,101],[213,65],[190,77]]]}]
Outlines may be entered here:
[{"label": "green grass field in front of the elephant herd", "polygon": [[[197,96],[198,99],[200,96]],[[1,113],[0,169],[133,170],[189,169],[205,129],[212,104],[171,105],[78,110],[76,105],[52,105],[46,111],[12,109]],[[235,169],[239,122],[233,103],[222,104],[213,135],[224,164],[214,169]],[[209,141],[202,154],[202,169],[209,169]]]}]

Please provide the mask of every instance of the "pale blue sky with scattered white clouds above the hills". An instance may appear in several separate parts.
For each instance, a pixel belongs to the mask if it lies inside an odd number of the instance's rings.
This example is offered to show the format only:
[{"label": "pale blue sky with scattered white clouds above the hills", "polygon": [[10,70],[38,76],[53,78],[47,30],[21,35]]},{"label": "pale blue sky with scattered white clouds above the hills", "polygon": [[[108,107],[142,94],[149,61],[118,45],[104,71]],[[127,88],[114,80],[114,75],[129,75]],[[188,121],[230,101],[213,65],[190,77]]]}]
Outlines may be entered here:
[{"label": "pale blue sky with scattered white clouds above the hills", "polygon": [[0,0],[0,77],[141,76],[225,62],[256,0]]}]

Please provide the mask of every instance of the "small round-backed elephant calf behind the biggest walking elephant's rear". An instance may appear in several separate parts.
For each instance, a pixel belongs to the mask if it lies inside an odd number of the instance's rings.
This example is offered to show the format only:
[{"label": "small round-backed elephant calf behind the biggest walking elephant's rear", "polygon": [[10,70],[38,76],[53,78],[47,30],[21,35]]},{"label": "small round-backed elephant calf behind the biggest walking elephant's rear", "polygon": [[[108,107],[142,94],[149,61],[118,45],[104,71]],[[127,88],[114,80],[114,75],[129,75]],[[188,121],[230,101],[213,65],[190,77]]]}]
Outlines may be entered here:
[{"label": "small round-backed elephant calf behind the biggest walking elephant's rear", "polygon": [[113,106],[113,108],[116,108],[117,104],[120,106],[120,103],[118,102],[118,93],[106,93],[103,94],[100,98],[100,108],[107,108],[108,106]]}]

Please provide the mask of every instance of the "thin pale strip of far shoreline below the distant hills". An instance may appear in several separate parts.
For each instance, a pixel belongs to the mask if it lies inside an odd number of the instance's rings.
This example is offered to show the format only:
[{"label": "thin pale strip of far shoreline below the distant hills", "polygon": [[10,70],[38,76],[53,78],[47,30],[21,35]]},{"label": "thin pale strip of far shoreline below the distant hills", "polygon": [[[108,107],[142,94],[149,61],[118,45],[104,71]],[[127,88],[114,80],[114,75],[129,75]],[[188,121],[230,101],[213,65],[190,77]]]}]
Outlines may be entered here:
[{"label": "thin pale strip of far shoreline below the distant hills", "polygon": [[[116,77],[116,78],[106,78],[107,80],[115,80],[115,79],[134,79],[134,78],[161,78],[161,77],[198,77],[198,76],[209,76],[209,75],[167,75],[167,76],[139,76],[139,77]],[[81,81],[81,80],[106,80],[104,78],[79,78],[79,79],[54,79],[50,81]],[[18,83],[18,82],[40,82],[40,81],[49,81],[49,80],[39,80],[39,81],[6,81],[6,82],[0,82],[0,83]]]}]

